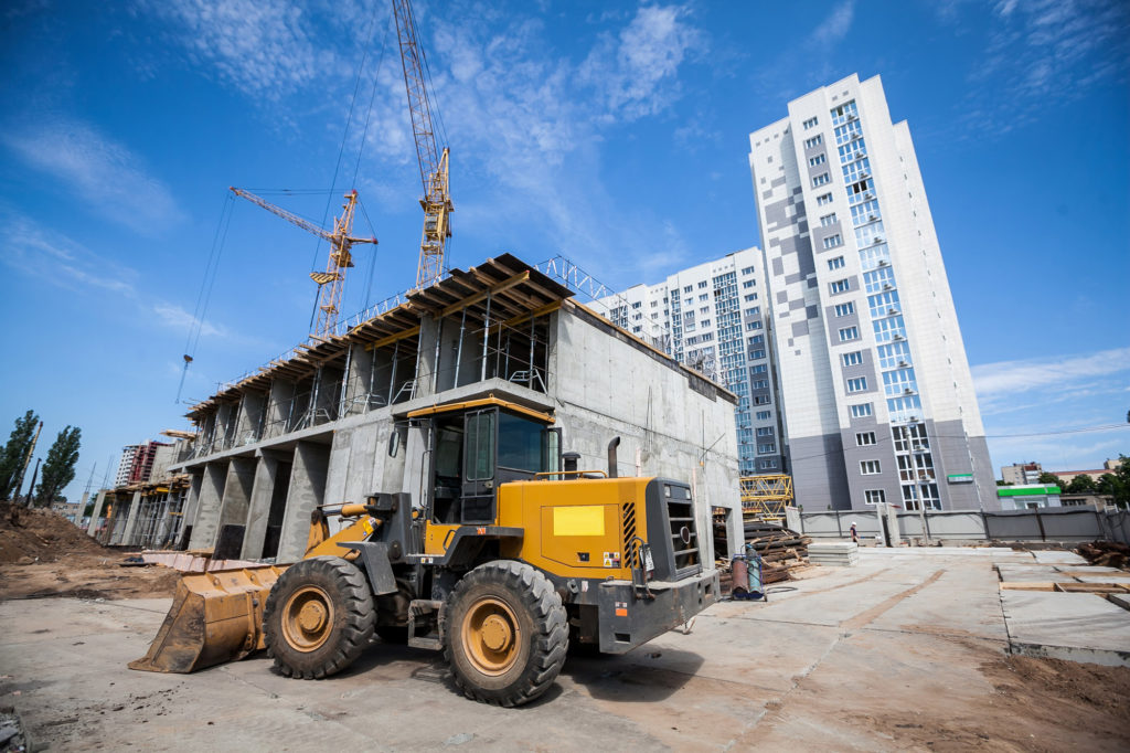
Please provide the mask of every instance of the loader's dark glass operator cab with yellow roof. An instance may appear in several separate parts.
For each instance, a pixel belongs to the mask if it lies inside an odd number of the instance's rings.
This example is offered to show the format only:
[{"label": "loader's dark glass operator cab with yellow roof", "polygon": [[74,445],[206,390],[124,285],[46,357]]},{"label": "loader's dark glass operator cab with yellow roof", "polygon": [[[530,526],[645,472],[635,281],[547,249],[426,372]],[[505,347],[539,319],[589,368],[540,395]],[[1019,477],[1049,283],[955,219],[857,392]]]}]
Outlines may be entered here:
[{"label": "loader's dark glass operator cab with yellow roof", "polygon": [[551,416],[497,398],[414,410],[432,422],[425,504],[440,525],[490,523],[498,485],[560,470]]}]

